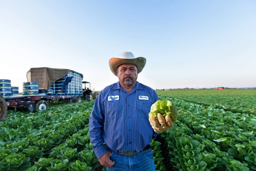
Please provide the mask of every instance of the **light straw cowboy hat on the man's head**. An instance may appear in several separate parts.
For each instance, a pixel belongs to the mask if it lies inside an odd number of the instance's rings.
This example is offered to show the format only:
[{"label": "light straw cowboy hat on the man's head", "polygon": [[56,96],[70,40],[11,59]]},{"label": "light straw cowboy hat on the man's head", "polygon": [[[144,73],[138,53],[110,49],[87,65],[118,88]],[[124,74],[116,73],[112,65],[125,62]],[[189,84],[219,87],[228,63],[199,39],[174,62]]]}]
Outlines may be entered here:
[{"label": "light straw cowboy hat on the man's head", "polygon": [[109,68],[115,76],[117,76],[115,70],[122,64],[136,65],[140,73],[146,64],[146,59],[143,57],[135,58],[132,52],[124,52],[120,58],[109,59]]}]

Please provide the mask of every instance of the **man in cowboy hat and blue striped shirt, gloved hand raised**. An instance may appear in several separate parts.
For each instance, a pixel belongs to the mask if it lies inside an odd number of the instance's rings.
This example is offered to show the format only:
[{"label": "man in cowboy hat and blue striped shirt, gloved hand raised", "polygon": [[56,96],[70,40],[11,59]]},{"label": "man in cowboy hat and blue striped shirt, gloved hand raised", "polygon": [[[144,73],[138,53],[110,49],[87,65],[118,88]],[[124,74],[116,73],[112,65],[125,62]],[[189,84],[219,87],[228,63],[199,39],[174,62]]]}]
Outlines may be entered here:
[{"label": "man in cowboy hat and blue striped shirt, gloved hand raised", "polygon": [[119,81],[100,92],[89,118],[93,150],[107,171],[155,171],[149,144],[157,132],[173,124],[161,114],[159,122],[149,119],[150,107],[159,98],[152,88],[136,81],[145,64],[145,58],[135,58],[131,52],[109,60]]}]

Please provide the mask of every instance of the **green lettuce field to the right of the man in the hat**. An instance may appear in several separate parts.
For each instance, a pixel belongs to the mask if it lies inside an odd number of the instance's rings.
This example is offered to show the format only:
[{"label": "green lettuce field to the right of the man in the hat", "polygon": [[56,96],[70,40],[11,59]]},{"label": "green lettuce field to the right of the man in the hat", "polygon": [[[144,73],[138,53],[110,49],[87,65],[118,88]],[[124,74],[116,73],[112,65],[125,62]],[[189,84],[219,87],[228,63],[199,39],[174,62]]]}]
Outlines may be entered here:
[{"label": "green lettuce field to the right of the man in the hat", "polygon": [[256,89],[157,94],[179,112],[160,135],[166,170],[256,170]]}]

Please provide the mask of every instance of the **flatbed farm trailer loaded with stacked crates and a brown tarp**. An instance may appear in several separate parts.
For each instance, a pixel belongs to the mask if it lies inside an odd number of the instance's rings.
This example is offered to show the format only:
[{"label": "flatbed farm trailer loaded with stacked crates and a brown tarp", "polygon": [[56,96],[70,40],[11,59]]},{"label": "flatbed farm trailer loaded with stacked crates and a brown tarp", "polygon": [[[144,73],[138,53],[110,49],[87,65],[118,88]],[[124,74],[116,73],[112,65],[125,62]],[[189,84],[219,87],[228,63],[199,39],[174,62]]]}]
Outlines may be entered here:
[{"label": "flatbed farm trailer loaded with stacked crates and a brown tarp", "polygon": [[[67,93],[61,92],[65,76],[73,76],[68,84]],[[0,80],[0,120],[6,117],[8,109],[27,106],[29,112],[46,110],[52,99],[81,102],[83,97],[83,74],[70,69],[31,68],[26,73],[28,82],[23,83],[22,95],[12,93],[11,81]],[[89,83],[85,81],[86,83]],[[91,99],[97,97],[97,92]]]}]

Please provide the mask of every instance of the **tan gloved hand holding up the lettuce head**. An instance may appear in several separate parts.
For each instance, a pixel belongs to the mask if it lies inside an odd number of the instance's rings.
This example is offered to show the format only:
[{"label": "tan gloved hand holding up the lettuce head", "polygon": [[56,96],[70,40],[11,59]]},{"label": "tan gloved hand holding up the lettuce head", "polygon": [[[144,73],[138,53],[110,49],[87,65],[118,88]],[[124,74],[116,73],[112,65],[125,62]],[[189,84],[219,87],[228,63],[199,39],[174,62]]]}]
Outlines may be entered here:
[{"label": "tan gloved hand holding up the lettuce head", "polygon": [[157,113],[157,119],[154,115],[150,115],[149,122],[155,132],[161,133],[165,130],[168,130],[173,126],[173,121],[171,120],[170,116],[166,116],[165,119],[161,113]]}]

